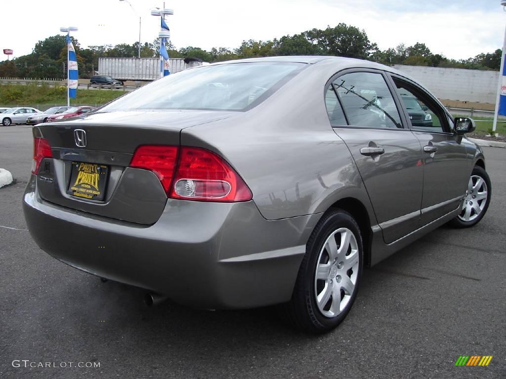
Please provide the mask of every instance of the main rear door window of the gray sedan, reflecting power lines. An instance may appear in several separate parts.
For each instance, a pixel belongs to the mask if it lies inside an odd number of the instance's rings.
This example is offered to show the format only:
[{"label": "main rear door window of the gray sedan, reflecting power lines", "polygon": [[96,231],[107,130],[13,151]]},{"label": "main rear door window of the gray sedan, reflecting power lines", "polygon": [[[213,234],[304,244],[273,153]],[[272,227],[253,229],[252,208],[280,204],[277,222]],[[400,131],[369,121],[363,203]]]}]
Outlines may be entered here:
[{"label": "main rear door window of the gray sedan, reflecting power lines", "polygon": [[392,93],[382,74],[353,72],[332,82],[348,122],[368,128],[402,128]]}]

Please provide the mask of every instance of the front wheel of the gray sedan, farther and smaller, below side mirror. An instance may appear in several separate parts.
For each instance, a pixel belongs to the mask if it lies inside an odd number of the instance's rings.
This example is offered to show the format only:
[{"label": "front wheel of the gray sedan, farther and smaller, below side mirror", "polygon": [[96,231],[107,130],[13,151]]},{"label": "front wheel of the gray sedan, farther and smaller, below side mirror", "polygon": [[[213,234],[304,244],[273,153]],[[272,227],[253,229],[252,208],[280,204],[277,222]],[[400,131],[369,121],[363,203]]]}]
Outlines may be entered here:
[{"label": "front wheel of the gray sedan, farther and smaller, below side mirror", "polygon": [[491,195],[492,185],[487,171],[475,166],[469,178],[460,214],[450,221],[450,225],[459,228],[476,225],[485,216]]}]

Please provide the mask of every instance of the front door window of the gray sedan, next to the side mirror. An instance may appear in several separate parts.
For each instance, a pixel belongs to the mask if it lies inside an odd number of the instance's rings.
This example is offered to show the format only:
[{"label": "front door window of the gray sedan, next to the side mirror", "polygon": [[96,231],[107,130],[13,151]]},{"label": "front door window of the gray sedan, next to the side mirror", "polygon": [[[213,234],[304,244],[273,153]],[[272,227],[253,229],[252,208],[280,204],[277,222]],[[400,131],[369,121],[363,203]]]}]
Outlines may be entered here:
[{"label": "front door window of the gray sedan, next to the side mirror", "polygon": [[436,133],[449,131],[444,111],[429,94],[399,78],[393,79],[409,116],[411,129]]}]

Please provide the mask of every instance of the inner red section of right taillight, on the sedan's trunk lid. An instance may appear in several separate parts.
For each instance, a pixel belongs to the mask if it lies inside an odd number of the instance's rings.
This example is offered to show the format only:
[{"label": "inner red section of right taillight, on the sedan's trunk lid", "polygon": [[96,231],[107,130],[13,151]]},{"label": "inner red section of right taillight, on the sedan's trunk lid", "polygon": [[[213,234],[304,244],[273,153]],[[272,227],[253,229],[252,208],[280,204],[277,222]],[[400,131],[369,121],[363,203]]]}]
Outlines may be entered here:
[{"label": "inner red section of right taillight, on the sedan's trunk lid", "polygon": [[178,150],[177,146],[139,146],[130,167],[153,171],[160,179],[165,193],[168,193],[176,168]]}]

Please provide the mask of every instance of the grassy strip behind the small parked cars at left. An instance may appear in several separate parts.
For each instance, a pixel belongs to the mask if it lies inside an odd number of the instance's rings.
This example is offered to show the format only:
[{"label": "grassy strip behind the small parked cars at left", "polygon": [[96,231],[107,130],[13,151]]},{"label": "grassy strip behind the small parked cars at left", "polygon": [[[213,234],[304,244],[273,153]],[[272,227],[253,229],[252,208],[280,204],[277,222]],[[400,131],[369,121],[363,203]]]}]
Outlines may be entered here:
[{"label": "grassy strip behind the small parked cars at left", "polygon": [[[77,98],[70,99],[70,105],[98,107],[124,93],[111,89],[77,89]],[[34,107],[44,111],[55,105],[67,105],[66,86],[0,84],[0,106]]]}]

